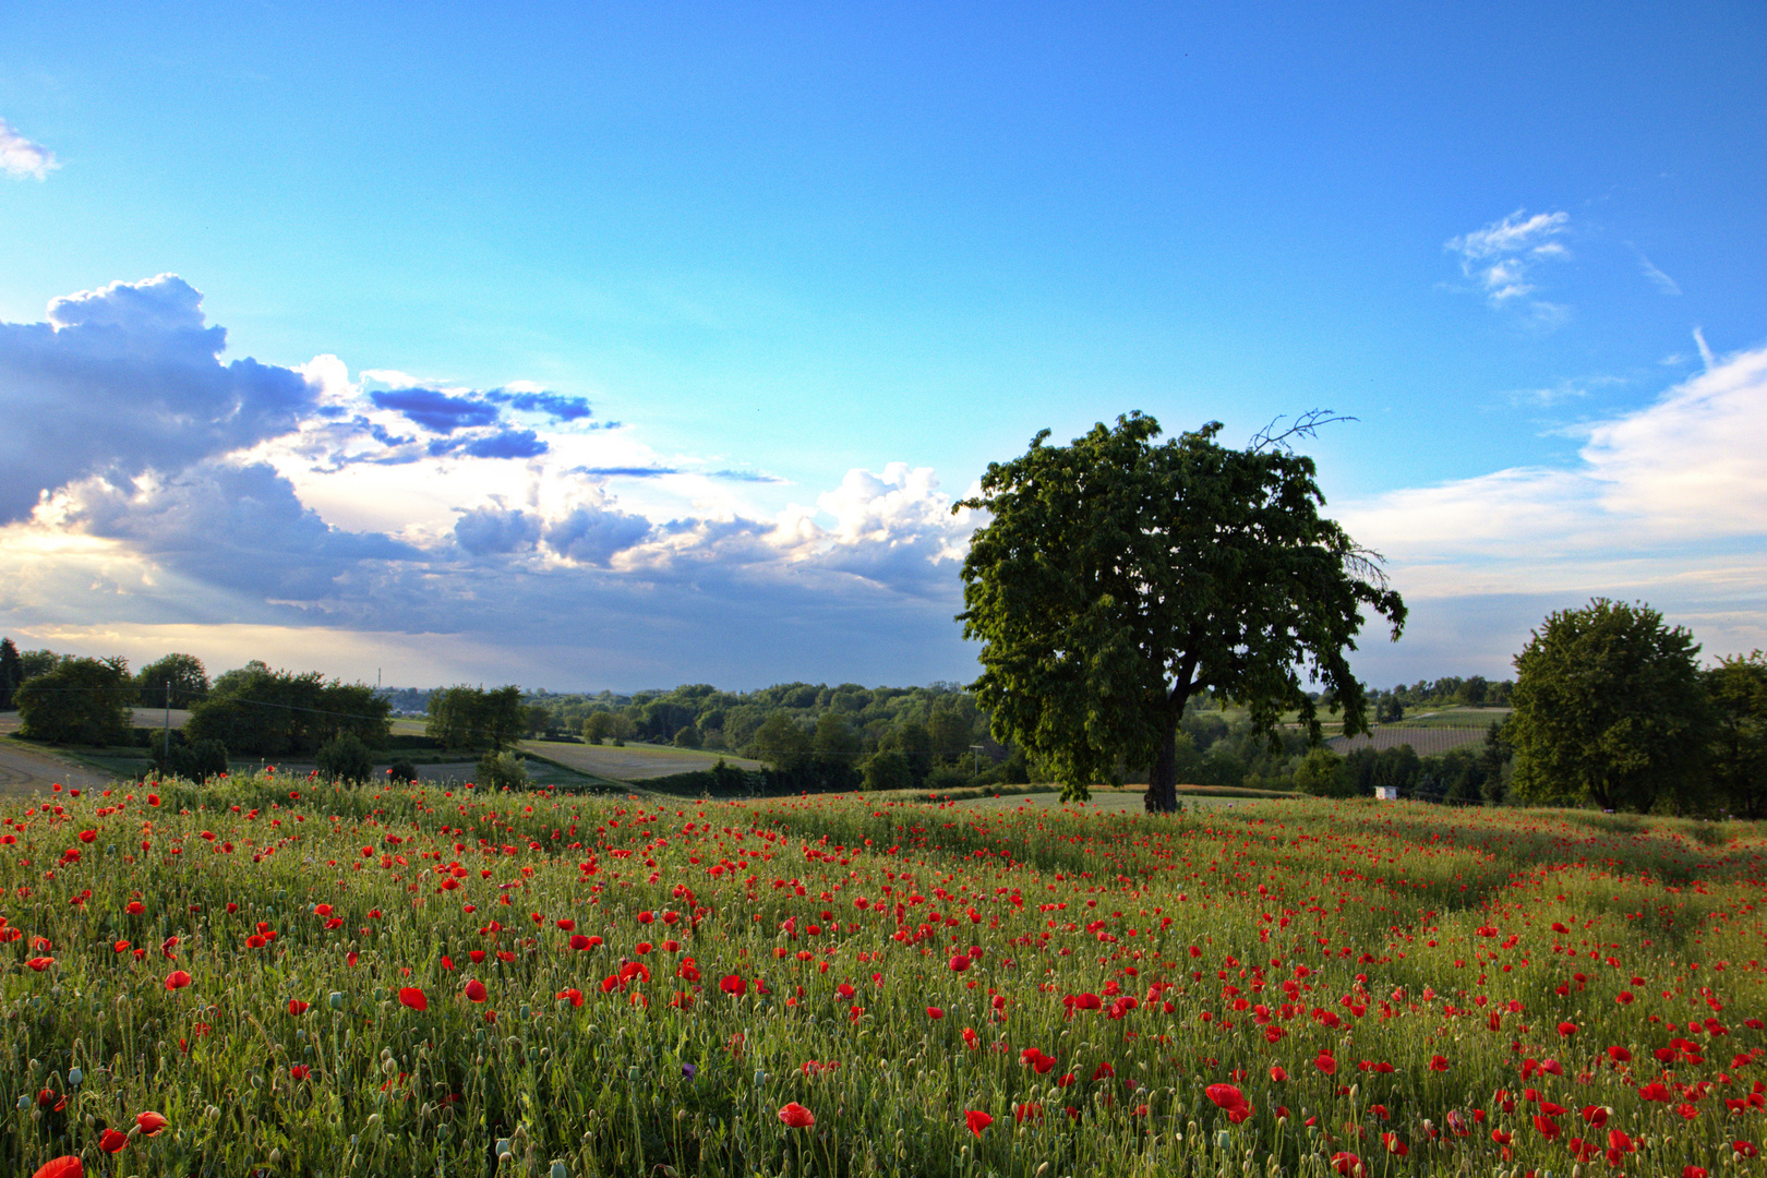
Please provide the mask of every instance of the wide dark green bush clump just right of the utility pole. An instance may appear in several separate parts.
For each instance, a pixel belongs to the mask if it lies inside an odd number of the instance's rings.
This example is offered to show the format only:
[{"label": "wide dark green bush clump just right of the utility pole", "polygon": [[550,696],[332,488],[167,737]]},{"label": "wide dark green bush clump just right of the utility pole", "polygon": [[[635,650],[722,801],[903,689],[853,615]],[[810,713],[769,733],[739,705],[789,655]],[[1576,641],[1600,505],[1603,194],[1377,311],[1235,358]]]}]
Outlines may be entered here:
[{"label": "wide dark green bush clump just right of the utility pole", "polygon": [[325,680],[318,671],[272,671],[253,661],[216,678],[191,706],[191,740],[219,740],[235,756],[311,754],[350,733],[380,747],[392,728],[391,705],[368,683]]}]

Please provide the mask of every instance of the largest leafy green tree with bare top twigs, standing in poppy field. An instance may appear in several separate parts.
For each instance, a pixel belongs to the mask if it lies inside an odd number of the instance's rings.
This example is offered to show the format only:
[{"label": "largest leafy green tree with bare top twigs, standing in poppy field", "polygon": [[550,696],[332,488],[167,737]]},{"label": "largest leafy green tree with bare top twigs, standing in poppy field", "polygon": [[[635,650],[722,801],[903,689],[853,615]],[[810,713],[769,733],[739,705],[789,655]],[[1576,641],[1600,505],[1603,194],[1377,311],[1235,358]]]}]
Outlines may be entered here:
[{"label": "largest leafy green tree with bare top twigs, standing in poppy field", "polygon": [[1159,424],[1129,413],[1073,445],[995,463],[963,562],[967,638],[982,643],[977,701],[993,735],[1053,768],[1085,797],[1119,765],[1149,768],[1147,809],[1177,809],[1184,705],[1214,691],[1274,735],[1299,712],[1320,738],[1302,675],[1323,682],[1345,731],[1368,729],[1346,650],[1371,609],[1405,625],[1378,556],[1320,516],[1313,459],[1288,436],[1244,450],[1219,422],[1156,443]]}]

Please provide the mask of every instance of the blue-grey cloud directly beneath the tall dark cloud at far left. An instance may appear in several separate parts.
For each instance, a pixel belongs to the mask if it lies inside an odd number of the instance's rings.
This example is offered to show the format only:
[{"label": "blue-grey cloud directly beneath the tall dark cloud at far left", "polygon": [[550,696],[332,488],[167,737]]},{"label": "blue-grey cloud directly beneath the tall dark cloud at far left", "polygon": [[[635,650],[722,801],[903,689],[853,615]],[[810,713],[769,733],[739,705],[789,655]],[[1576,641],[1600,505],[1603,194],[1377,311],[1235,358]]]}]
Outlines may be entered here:
[{"label": "blue-grey cloud directly beneath the tall dark cloud at far left", "polygon": [[378,532],[329,526],[265,464],[201,464],[157,486],[83,484],[74,523],[129,540],[209,585],[283,600],[322,600],[369,562],[421,560]]}]

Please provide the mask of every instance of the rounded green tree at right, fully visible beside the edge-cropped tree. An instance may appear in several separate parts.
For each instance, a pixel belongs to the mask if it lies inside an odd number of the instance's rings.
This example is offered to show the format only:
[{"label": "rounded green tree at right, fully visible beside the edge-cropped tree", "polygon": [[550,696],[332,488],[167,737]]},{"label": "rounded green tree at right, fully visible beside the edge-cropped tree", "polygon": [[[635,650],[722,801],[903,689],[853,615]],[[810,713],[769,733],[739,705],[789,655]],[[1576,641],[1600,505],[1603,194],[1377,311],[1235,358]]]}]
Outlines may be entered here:
[{"label": "rounded green tree at right, fully visible beside the edge-cropped tree", "polygon": [[1645,604],[1550,615],[1516,655],[1514,795],[1638,812],[1691,800],[1710,731],[1698,653]]}]

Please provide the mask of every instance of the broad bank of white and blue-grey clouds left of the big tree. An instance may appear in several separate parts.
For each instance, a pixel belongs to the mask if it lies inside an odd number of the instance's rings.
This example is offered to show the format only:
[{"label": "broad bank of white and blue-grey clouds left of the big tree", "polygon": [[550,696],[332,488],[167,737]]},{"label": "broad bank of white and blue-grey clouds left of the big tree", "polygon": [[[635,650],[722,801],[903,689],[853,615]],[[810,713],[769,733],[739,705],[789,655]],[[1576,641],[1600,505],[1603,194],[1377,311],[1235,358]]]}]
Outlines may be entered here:
[{"label": "broad bank of white and blue-grey clouds left of the big tree", "polygon": [[[664,461],[583,397],[352,380],[329,355],[224,364],[224,348],[175,276],[0,323],[0,408],[18,424],[0,442],[16,574],[0,613],[14,625],[350,627],[514,646],[567,632],[682,678],[703,676],[707,645],[785,668],[806,648],[852,657],[839,636],[892,650],[935,620],[951,629],[974,525],[951,516],[931,470],[855,470],[813,507],[769,509],[749,496],[779,480]],[[931,676],[949,676],[956,650],[952,636]]]}]

